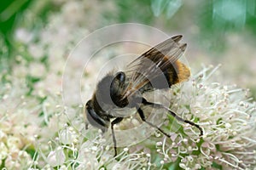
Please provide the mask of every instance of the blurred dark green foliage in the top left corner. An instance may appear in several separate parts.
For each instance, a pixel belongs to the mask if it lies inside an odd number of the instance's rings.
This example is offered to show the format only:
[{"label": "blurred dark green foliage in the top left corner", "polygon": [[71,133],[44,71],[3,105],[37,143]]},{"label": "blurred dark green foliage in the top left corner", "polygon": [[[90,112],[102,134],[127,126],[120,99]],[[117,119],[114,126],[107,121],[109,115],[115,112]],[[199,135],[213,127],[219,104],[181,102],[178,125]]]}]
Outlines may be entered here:
[{"label": "blurred dark green foliage in the top left corner", "polygon": [[[14,56],[19,54],[20,43],[15,42],[15,31],[26,26],[32,31],[39,30],[46,24],[51,11],[58,10],[49,0],[10,0],[3,1],[0,6],[0,71],[10,70]],[[30,17],[27,13],[30,13]],[[24,45],[24,44],[23,44]]]}]

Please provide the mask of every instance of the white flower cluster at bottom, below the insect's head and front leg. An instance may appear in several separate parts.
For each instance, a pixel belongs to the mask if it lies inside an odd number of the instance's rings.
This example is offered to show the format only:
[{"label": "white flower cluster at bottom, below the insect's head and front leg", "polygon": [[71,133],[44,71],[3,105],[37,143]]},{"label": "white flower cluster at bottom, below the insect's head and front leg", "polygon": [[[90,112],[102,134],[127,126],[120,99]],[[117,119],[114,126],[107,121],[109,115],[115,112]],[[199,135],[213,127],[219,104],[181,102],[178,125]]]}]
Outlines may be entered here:
[{"label": "white flower cluster at bottom, below the insect's head and front leg", "polygon": [[50,151],[41,150],[38,160],[34,161],[37,162],[34,169],[40,160],[44,160],[41,167],[45,169],[141,169],[151,164],[150,155],[128,153],[128,148],[119,153],[117,160],[113,157],[111,148],[105,145],[105,139],[100,133],[95,139],[88,140],[74,127],[66,125],[60,130],[58,137],[49,142]]}]

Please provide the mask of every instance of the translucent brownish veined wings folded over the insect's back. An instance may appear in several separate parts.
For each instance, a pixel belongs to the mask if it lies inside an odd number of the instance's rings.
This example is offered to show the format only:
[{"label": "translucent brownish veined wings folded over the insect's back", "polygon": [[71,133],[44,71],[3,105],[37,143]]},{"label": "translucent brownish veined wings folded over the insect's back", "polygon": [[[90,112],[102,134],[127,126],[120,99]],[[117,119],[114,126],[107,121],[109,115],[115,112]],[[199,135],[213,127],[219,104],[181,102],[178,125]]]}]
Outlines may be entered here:
[{"label": "translucent brownish veined wings folded over the insect's back", "polygon": [[134,94],[143,88],[149,80],[160,76],[163,71],[173,66],[187,47],[186,43],[179,43],[181,39],[181,35],[171,37],[154,48],[150,48],[127,65],[126,72],[131,74],[131,80],[123,94],[124,98]]}]

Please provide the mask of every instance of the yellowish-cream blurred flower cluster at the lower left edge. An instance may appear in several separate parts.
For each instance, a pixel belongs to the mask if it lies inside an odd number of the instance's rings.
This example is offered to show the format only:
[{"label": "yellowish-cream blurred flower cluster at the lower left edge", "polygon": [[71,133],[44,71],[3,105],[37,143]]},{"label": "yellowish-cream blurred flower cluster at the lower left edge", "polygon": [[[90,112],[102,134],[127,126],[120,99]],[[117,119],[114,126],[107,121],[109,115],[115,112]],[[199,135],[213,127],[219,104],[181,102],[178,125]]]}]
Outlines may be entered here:
[{"label": "yellowish-cream blurred flower cluster at the lower left edge", "polygon": [[[1,75],[2,76],[2,75]],[[38,135],[38,103],[26,99],[19,87],[2,84],[0,92],[0,166],[8,169],[32,165],[34,143]],[[24,87],[23,87],[24,88]]]}]

